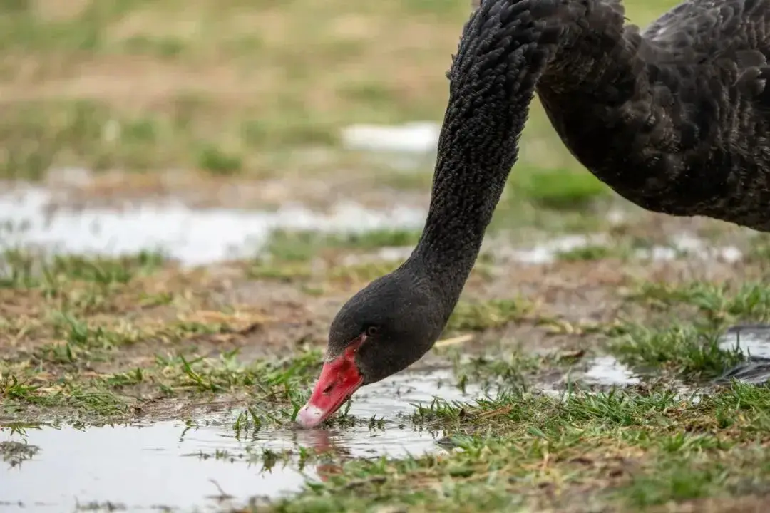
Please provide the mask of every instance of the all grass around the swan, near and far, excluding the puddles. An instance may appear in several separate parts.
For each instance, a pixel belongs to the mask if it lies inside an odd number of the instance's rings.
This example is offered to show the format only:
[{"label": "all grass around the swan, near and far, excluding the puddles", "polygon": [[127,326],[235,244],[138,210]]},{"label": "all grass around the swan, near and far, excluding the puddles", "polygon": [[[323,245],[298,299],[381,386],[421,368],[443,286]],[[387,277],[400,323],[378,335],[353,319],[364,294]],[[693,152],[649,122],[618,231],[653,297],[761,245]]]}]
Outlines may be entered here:
[{"label": "all grass around the swan, near and far, excluding the puddles", "polygon": [[[625,3],[644,25],[674,2]],[[360,122],[439,122],[444,72],[469,4],[0,2],[0,178],[45,179],[51,168],[74,165],[97,172],[97,182],[102,171],[137,172],[141,185],[182,168],[217,187],[243,180],[269,188],[280,179],[322,202],[370,192],[412,198],[429,190],[430,168],[394,172],[346,151],[340,131]],[[271,201],[259,196],[249,206]],[[535,102],[491,230],[507,228],[517,242],[533,228],[601,231],[611,201]],[[645,222],[613,228],[614,245],[563,252],[547,266],[480,258],[444,333],[454,338],[450,350],[431,357],[449,352],[458,386],[501,387],[498,395],[437,398],[384,420],[343,408],[327,425],[440,430],[442,446],[461,451],[365,460],[253,444],[243,458],[201,457],[259,461],[273,471],[322,460],[339,469],[259,511],[765,505],[770,392],[711,379],[740,360],[718,347],[722,329],[770,321],[770,245],[752,239],[745,265],[722,273],[727,280],[714,277],[717,264],[642,265],[631,250],[662,232]],[[0,426],[190,418],[206,404],[234,410],[223,430],[238,437],[286,428],[320,371],[336,308],[400,264],[376,258],[380,248],[408,248],[419,236],[277,232],[259,258],[194,270],[149,252],[42,258],[4,248]],[[641,371],[644,384],[581,389],[572,372],[604,351]],[[549,387],[568,393],[538,392]],[[36,457],[7,444],[0,455],[8,465]]]}]

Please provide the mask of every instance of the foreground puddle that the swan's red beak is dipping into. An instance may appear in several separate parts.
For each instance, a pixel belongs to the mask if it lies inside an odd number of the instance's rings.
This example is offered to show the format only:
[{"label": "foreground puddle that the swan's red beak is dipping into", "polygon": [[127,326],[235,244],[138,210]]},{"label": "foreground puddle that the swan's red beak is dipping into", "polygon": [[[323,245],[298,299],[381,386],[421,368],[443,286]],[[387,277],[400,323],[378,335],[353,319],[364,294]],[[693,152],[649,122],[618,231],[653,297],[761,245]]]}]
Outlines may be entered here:
[{"label": "foreground puddle that the swan's red beak is dipping into", "polygon": [[[72,511],[76,505],[122,505],[130,510],[172,508],[217,511],[243,505],[251,498],[278,497],[299,491],[306,480],[319,481],[334,465],[308,464],[302,470],[300,448],[343,457],[404,457],[442,450],[440,431],[420,431],[403,414],[410,403],[430,404],[434,395],[447,401],[480,397],[451,385],[446,369],[401,373],[362,388],[349,414],[386,418],[383,426],[366,422],[344,429],[241,432],[235,418],[209,418],[186,425],[179,421],[149,425],[28,429],[26,435],[0,430],[0,444],[21,442],[38,451],[28,455],[18,446],[0,470],[2,511]],[[269,452],[290,450],[266,466]],[[19,457],[19,455],[22,455]],[[26,455],[26,456],[25,456]],[[339,460],[339,458],[337,458]],[[221,487],[221,488],[220,488]],[[229,496],[229,497],[226,497]],[[109,505],[108,505],[109,504]]]}]

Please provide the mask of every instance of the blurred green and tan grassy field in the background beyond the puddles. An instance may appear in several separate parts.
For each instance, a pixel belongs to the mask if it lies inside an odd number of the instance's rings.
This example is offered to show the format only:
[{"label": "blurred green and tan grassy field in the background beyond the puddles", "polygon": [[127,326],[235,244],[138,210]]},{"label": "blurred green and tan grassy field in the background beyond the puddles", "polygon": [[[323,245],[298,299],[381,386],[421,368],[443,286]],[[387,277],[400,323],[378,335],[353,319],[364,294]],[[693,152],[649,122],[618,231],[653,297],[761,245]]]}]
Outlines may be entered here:
[{"label": "blurred green and tan grassy field in the background beyond the puddles", "polygon": [[[626,4],[644,25],[674,2]],[[469,13],[469,0],[2,0],[0,177],[280,176],[306,166],[296,148],[339,149],[345,125],[440,122]],[[349,158],[335,155],[313,172]],[[536,106],[517,179],[541,169],[579,167]],[[581,175],[577,195],[605,192]],[[531,188],[549,195],[549,177]]]}]

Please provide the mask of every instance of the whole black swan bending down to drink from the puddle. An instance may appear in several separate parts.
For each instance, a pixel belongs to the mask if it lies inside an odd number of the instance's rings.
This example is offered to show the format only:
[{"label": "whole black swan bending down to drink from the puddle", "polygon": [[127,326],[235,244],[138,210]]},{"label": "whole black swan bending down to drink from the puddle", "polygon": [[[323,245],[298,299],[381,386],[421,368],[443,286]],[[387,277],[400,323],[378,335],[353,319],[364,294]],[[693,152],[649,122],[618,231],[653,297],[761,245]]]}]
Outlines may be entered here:
[{"label": "whole black swan bending down to drink from the puddle", "polygon": [[572,154],[671,215],[770,231],[770,0],[689,0],[644,32],[620,0],[484,0],[447,77],[430,210],[412,254],[333,319],[304,428],[440,336],[517,158],[535,90]]}]

